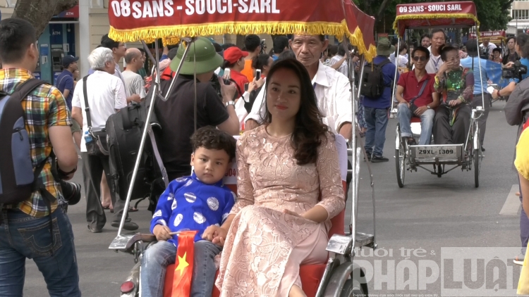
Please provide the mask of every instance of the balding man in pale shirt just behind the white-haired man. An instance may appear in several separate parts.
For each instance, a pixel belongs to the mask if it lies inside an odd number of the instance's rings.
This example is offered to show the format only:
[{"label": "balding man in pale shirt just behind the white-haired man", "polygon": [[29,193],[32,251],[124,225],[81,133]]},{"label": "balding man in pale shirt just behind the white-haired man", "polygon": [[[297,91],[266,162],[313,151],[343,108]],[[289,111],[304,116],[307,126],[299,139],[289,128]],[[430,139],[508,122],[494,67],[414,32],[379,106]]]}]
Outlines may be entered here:
[{"label": "balding man in pale shirt just behind the white-haired man", "polygon": [[142,52],[139,49],[131,48],[125,52],[125,63],[127,69],[121,72],[125,80],[125,89],[128,94],[138,94],[141,99],[145,99],[145,82],[137,72],[143,67],[145,60],[142,58]]}]

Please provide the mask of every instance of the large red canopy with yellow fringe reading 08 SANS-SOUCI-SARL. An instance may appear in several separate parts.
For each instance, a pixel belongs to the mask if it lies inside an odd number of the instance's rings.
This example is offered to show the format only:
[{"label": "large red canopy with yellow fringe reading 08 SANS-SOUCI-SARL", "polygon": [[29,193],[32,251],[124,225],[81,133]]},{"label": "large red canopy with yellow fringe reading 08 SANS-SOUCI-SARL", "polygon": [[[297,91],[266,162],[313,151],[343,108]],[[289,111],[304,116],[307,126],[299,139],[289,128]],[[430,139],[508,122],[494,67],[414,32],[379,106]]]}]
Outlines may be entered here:
[{"label": "large red canopy with yellow fringe reading 08 SANS-SOUCI-SARL", "polygon": [[[110,0],[109,23],[109,36],[121,42],[308,32],[346,36],[368,60],[374,56],[364,44],[351,0]],[[372,27],[365,32],[372,34]]]}]

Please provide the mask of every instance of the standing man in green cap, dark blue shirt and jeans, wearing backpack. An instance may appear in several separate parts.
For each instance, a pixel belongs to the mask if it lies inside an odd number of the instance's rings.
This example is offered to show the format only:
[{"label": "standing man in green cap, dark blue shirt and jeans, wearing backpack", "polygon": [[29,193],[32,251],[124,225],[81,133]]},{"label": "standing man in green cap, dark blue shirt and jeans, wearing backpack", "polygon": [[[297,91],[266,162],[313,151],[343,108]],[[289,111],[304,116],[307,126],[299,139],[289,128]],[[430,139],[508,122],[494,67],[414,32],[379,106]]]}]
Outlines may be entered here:
[{"label": "standing man in green cap, dark blue shirt and jeans, wearing backpack", "polygon": [[[384,61],[389,62],[389,55],[395,52],[395,46],[391,45],[389,39],[380,39],[377,44],[377,56],[373,64],[380,65]],[[391,87],[396,72],[393,63],[382,65],[382,77],[384,78],[384,92],[378,98],[364,96],[364,118],[367,125],[365,132],[365,151],[367,158],[372,163],[387,162],[389,159],[382,156],[384,142],[386,141],[386,127],[391,107]],[[371,156],[372,155],[372,156]]]}]

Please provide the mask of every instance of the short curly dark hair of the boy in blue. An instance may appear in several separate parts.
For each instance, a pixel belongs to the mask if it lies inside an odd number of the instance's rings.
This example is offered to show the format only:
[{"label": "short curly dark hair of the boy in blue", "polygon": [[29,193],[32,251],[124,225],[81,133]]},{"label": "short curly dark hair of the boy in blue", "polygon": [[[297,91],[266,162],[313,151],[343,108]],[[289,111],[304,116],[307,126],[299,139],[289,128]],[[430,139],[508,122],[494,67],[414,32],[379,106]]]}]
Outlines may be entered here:
[{"label": "short curly dark hair of the boy in blue", "polygon": [[193,152],[200,147],[224,150],[230,157],[230,162],[235,158],[236,142],[237,141],[235,141],[230,134],[212,126],[197,129],[197,131],[191,135]]}]

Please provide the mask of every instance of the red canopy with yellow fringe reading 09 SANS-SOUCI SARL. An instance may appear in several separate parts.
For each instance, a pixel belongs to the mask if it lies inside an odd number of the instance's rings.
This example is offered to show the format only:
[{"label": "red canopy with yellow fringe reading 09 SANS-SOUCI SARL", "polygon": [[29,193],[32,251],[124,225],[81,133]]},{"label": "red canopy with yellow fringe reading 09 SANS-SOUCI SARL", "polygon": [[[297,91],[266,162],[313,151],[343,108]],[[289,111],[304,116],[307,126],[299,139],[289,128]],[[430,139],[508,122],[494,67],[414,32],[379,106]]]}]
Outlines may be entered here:
[{"label": "red canopy with yellow fringe reading 09 SANS-SOUCI SARL", "polygon": [[393,28],[399,36],[407,28],[472,27],[479,25],[474,2],[432,2],[399,4]]}]

